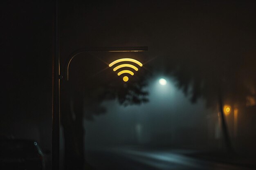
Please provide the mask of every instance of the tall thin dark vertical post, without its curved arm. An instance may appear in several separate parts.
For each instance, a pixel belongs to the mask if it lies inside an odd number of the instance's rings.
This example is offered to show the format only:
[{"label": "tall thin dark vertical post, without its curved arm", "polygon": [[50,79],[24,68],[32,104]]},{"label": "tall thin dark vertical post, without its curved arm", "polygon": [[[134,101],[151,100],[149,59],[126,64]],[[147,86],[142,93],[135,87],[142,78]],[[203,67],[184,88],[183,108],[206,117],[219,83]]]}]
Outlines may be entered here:
[{"label": "tall thin dark vertical post, without its curved arm", "polygon": [[53,4],[53,72],[52,72],[52,170],[59,170],[60,142],[60,68],[58,36],[58,0]]}]

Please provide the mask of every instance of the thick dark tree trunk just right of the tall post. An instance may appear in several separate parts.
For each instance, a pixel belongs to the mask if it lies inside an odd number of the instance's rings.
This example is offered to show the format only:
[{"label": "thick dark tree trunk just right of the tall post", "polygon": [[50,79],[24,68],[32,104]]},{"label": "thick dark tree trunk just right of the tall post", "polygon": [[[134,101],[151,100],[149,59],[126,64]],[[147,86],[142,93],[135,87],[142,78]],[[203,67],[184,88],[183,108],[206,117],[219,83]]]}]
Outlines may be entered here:
[{"label": "thick dark tree trunk just right of the tall post", "polygon": [[84,153],[84,98],[79,92],[72,93],[71,95],[70,87],[67,87],[65,88],[66,91],[63,88],[61,97],[61,120],[65,140],[65,170],[83,170],[85,167],[90,169],[90,165],[85,161]]}]

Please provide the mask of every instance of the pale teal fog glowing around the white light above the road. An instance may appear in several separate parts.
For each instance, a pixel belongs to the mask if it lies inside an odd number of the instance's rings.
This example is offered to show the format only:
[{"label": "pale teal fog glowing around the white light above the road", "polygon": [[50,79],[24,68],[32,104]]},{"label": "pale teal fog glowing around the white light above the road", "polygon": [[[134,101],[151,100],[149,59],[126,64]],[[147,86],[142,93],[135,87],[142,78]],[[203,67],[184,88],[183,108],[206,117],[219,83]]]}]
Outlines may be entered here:
[{"label": "pale teal fog glowing around the white light above the road", "polygon": [[[159,84],[160,78],[165,78],[167,84]],[[203,100],[191,104],[174,79],[158,74],[148,82],[148,103],[120,106],[117,101],[103,102],[106,114],[85,121],[85,149],[114,144],[165,146],[205,142],[206,117],[214,110],[205,108]]]}]

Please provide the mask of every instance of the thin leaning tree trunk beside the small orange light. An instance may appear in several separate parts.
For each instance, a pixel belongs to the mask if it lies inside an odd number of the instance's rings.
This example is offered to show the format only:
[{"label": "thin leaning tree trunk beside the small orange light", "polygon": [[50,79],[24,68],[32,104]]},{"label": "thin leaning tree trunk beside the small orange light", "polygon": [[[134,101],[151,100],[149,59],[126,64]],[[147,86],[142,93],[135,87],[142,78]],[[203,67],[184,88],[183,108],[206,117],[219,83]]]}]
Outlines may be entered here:
[{"label": "thin leaning tree trunk beside the small orange light", "polygon": [[225,146],[227,148],[227,152],[233,152],[232,144],[229,137],[229,132],[227,128],[227,123],[225,120],[225,115],[223,112],[223,104],[222,104],[222,95],[219,95],[219,109],[220,109],[220,116],[221,116],[221,128],[222,128],[222,135],[224,137]]}]

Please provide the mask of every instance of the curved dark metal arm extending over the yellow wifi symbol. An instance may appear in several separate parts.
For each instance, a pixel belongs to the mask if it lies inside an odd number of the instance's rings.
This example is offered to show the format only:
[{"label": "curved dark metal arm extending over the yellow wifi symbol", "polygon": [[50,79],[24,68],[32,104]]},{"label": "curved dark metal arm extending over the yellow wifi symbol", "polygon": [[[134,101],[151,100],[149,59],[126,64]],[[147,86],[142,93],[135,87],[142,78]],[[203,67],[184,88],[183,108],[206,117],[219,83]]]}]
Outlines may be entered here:
[{"label": "curved dark metal arm extending over the yellow wifi symbol", "polygon": [[101,47],[101,48],[88,48],[88,49],[78,49],[70,54],[69,59],[67,60],[67,64],[65,67],[65,76],[67,77],[68,81],[68,69],[70,66],[71,60],[80,53],[92,53],[92,52],[141,52],[141,51],[148,51],[147,46],[125,46],[125,47]]}]

